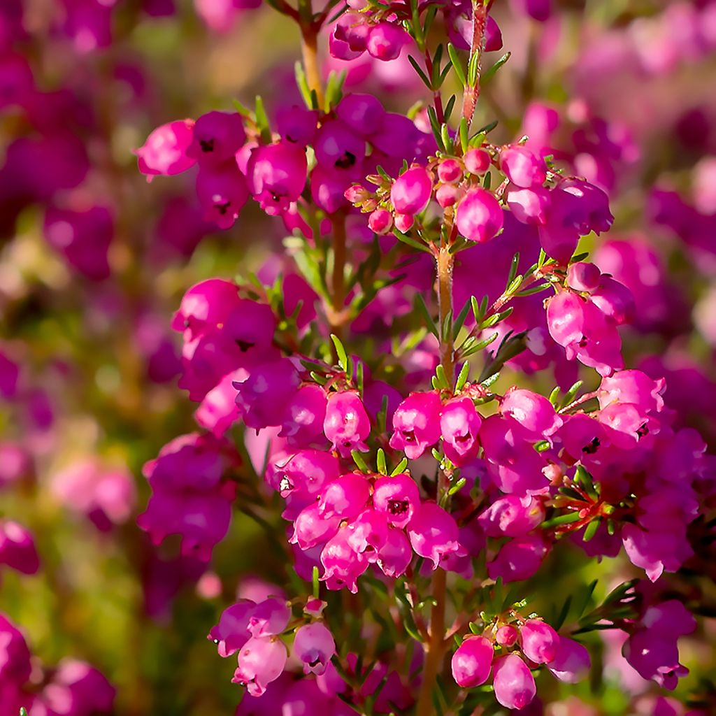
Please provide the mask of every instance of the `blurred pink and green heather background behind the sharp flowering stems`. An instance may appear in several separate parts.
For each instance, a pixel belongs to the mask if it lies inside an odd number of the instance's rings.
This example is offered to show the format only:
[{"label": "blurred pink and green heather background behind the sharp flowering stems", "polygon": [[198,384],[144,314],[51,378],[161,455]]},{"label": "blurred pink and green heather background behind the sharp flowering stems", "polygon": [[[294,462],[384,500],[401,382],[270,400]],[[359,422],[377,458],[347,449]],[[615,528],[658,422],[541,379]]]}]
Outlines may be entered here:
[{"label": "blurred pink and green heather background behind the sharp flowering stems", "polygon": [[[254,5],[0,1],[0,521],[29,528],[41,561],[29,576],[0,565],[0,611],[44,664],[100,669],[120,715],[233,713],[233,669],[205,634],[239,576],[245,594],[248,575],[286,579],[241,514],[209,566],[135,524],[142,465],[195,427],[170,330],[180,297],[209,276],[271,279],[287,232],[253,203],[217,231],[191,173],[147,184],[132,150],[232,100],[299,104],[296,28]],[[627,365],[666,375],[667,404],[713,447],[716,2],[496,0],[493,14],[512,55],[477,124],[496,117],[493,141],[526,134],[609,193],[614,228],[585,246],[636,296]],[[428,99],[408,52],[349,66],[324,52],[323,71],[405,113]],[[707,647],[687,645],[684,692],[714,667]],[[623,673],[600,677],[597,712],[652,713]],[[561,703],[552,716],[579,713]]]}]

